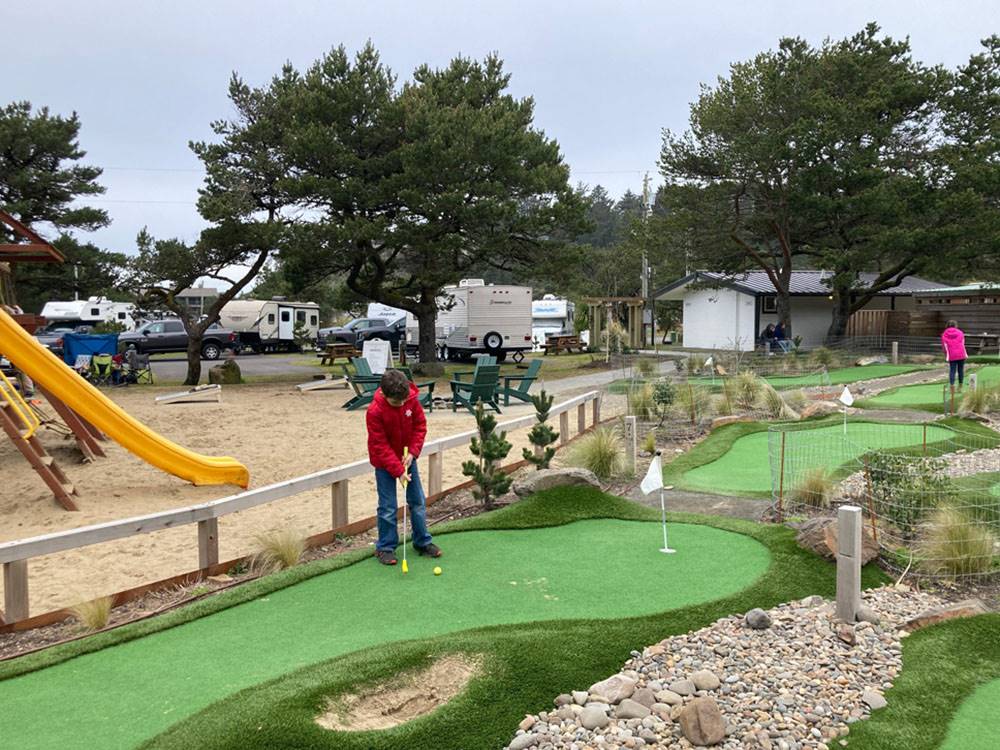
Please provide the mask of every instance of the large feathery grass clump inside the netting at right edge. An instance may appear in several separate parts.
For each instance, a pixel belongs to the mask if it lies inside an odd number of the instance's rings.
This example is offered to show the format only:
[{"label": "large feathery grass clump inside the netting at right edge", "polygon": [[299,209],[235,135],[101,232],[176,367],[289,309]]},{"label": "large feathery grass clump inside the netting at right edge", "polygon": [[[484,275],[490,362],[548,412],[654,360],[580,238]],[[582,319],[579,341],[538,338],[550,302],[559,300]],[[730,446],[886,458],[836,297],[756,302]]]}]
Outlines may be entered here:
[{"label": "large feathery grass clump inside the netting at right edge", "polygon": [[921,528],[921,569],[934,575],[976,575],[993,567],[997,538],[957,508],[939,508]]}]

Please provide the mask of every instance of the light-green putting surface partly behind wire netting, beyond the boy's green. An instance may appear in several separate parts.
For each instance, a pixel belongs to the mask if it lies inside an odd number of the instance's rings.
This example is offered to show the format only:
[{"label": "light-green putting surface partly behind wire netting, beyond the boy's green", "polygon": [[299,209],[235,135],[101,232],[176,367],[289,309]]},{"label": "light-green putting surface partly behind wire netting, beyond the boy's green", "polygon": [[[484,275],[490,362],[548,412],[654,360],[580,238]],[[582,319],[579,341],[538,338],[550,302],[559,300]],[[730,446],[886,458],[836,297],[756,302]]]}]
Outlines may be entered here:
[{"label": "light-green putting surface partly behind wire netting, beyond the boy's green", "polygon": [[[921,445],[923,425],[849,422],[848,440],[843,439],[842,425],[795,430],[790,433],[798,445],[813,440],[814,446],[795,451],[798,463],[808,462],[807,468],[825,466],[836,469],[875,448],[905,448]],[[955,433],[945,427],[929,425],[927,442],[953,438]],[[698,450],[697,446],[693,450]],[[791,454],[789,456],[791,459]],[[786,467],[792,469],[794,467]],[[806,468],[806,467],[801,467]],[[767,495],[771,492],[771,464],[768,455],[768,433],[755,432],[738,438],[730,449],[715,461],[691,469],[681,475],[684,489],[712,492],[719,495]]]}]

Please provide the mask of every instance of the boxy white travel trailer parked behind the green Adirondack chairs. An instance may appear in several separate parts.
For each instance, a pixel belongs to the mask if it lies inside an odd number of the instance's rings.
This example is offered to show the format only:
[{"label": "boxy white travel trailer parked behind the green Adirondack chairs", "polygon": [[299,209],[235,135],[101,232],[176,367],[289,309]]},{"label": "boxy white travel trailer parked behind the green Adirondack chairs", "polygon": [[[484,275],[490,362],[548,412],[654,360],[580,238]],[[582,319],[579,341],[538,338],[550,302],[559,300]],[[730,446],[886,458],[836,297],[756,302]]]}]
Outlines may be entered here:
[{"label": "boxy white travel trailer parked behind the green Adirondack chairs", "polygon": [[531,351],[531,287],[463,279],[438,302],[437,344],[442,357],[462,359]]}]

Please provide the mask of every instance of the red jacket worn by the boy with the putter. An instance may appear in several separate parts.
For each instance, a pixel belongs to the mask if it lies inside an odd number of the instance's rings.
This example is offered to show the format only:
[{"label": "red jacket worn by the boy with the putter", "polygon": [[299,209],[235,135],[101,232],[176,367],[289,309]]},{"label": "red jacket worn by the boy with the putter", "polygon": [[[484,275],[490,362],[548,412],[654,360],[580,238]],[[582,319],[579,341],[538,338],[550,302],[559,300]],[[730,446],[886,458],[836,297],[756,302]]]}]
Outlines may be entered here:
[{"label": "red jacket worn by the boy with the putter", "polygon": [[410,395],[402,406],[390,404],[382,389],[375,391],[368,407],[368,460],[376,469],[385,469],[394,477],[403,475],[403,448],[410,449],[414,460],[424,448],[427,417],[420,405],[420,390],[410,383]]}]

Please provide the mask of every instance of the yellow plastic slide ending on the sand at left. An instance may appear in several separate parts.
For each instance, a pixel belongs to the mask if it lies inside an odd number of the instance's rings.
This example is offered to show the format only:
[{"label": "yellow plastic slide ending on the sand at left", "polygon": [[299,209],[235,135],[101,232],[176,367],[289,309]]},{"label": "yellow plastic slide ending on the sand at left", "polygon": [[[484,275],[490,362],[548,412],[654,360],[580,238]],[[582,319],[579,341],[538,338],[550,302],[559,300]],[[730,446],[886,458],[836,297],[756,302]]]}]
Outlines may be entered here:
[{"label": "yellow plastic slide ending on the sand at left", "polygon": [[116,443],[158,469],[192,484],[250,484],[247,467],[233,458],[202,456],[129,416],[81,378],[0,309],[0,352],[15,367],[61,399]]}]

